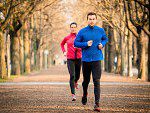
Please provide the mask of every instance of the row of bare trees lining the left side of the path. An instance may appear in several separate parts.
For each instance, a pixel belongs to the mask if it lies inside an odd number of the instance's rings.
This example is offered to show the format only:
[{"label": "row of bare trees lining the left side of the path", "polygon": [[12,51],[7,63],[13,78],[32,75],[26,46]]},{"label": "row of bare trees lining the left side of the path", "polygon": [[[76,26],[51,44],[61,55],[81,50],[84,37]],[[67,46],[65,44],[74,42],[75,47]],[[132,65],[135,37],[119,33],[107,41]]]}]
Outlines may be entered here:
[{"label": "row of bare trees lining the left side of the path", "polygon": [[41,37],[47,34],[42,27],[52,30],[50,15],[42,10],[54,7],[56,2],[58,1],[46,0],[46,3],[45,0],[0,1],[1,78],[8,78],[10,74],[30,73],[31,69],[40,67],[39,50],[44,42]]}]

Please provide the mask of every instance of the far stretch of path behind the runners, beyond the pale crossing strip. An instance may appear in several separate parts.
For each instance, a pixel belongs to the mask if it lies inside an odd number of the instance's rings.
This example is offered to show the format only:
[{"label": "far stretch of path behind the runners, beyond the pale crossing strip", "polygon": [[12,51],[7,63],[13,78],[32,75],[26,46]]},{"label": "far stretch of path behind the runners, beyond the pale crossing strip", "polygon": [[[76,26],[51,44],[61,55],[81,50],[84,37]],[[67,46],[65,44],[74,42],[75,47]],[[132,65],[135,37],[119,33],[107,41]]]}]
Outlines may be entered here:
[{"label": "far stretch of path behind the runners, beyond the pale crossing strip", "polygon": [[[47,70],[34,71],[31,74],[15,78],[11,82],[68,82],[68,80],[69,74],[66,65],[57,65]],[[149,82],[137,80],[136,77],[122,77],[119,74],[106,72],[102,72],[101,81],[149,84]],[[82,73],[79,82],[82,82]]]}]

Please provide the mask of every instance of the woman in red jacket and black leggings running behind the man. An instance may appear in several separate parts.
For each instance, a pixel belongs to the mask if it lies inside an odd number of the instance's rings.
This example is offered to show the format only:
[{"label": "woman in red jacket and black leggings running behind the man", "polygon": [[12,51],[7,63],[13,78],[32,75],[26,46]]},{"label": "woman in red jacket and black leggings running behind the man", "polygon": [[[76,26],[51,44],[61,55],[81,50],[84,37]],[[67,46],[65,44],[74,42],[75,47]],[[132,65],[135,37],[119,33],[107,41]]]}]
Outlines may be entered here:
[{"label": "woman in red jacket and black leggings running behind the man", "polygon": [[[80,78],[81,70],[81,48],[74,47],[74,40],[76,37],[77,23],[70,24],[71,33],[66,36],[61,42],[61,49],[64,56],[67,57],[67,67],[70,74],[70,88],[72,94],[72,101],[76,101],[75,88],[78,88],[78,80]],[[67,44],[67,51],[65,50]]]}]

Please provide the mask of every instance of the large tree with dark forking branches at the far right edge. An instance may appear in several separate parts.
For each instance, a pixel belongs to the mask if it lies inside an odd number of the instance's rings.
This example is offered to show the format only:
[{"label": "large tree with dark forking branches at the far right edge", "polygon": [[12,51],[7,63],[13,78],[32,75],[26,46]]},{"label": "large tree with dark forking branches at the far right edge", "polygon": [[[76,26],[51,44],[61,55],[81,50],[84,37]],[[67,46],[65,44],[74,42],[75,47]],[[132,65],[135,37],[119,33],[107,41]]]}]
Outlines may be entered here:
[{"label": "large tree with dark forking branches at the far right edge", "polygon": [[[123,0],[126,14],[126,26],[137,38],[138,44],[138,78],[147,80],[146,76],[146,61],[145,61],[145,40],[144,34],[150,36],[149,32],[149,1],[143,2],[138,0]],[[148,64],[149,65],[149,64]]]}]

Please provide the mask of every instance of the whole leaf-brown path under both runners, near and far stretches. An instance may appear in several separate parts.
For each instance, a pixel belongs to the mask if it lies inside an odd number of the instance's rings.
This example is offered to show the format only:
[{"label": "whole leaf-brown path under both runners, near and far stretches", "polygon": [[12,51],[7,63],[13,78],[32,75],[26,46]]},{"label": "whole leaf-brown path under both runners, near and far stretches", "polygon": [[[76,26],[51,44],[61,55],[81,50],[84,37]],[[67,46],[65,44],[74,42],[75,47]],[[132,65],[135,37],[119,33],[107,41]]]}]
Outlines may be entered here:
[{"label": "whole leaf-brown path under both runners, near and far stretches", "polygon": [[[94,113],[93,84],[88,103],[81,104],[82,75],[77,101],[71,101],[66,66],[34,72],[0,83],[0,113]],[[101,113],[150,113],[150,83],[103,72]]]}]

